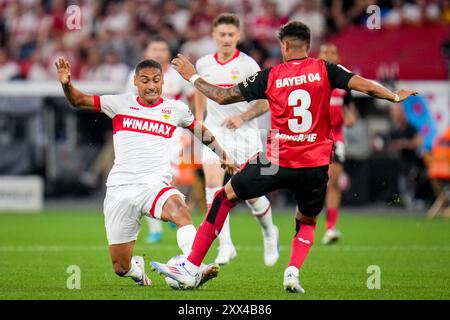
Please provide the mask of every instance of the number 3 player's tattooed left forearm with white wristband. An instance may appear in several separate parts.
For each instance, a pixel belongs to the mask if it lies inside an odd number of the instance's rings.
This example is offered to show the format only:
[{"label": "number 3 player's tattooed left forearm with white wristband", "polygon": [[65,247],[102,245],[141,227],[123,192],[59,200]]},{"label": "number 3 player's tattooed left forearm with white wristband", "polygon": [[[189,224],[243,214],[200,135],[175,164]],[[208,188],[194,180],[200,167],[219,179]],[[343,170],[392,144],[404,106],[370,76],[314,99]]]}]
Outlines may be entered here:
[{"label": "number 3 player's tattooed left forearm with white wristband", "polygon": [[[198,91],[218,104],[230,104],[245,100],[237,85],[223,88],[202,79],[197,75],[194,65],[182,54],[178,54],[178,57],[172,60],[172,65],[185,80],[192,82]],[[196,77],[193,78],[193,76]]]}]

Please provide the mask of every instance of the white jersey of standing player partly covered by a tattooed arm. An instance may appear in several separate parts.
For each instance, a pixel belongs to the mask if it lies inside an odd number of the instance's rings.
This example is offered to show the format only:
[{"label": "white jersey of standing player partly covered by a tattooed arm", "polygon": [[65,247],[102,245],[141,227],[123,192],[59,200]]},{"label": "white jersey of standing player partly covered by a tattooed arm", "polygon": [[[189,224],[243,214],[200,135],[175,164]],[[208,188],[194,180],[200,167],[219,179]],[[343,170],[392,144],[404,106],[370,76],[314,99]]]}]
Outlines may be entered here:
[{"label": "white jersey of standing player partly covered by a tattooed arm", "polygon": [[[255,60],[239,50],[225,63],[219,62],[217,53],[208,54],[197,60],[196,69],[206,81],[222,87],[234,86],[260,70]],[[204,123],[238,163],[262,149],[257,119],[244,122],[236,130],[228,129],[223,122],[248,111],[252,105],[246,101],[219,105],[207,99]]]}]

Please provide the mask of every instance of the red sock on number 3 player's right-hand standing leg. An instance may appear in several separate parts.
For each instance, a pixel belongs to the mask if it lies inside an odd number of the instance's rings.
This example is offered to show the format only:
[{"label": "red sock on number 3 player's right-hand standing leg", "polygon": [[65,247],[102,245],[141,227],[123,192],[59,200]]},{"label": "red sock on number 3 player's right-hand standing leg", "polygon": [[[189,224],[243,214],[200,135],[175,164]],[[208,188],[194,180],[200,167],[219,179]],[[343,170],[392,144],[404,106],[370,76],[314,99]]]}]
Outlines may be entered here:
[{"label": "red sock on number 3 player's right-hand standing leg", "polygon": [[316,224],[304,224],[297,221],[297,229],[297,234],[292,240],[292,252],[289,266],[300,269],[314,243]]}]

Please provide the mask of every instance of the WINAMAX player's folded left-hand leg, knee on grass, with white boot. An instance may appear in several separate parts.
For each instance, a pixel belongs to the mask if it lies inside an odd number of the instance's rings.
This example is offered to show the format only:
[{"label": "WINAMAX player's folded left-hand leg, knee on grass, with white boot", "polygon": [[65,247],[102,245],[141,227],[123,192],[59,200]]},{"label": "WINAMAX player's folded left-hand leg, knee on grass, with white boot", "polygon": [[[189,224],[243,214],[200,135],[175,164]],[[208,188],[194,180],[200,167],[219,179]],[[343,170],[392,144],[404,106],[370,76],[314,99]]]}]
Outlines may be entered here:
[{"label": "WINAMAX player's folded left-hand leg, knee on grass, with white boot", "polygon": [[149,286],[151,281],[145,273],[144,258],[133,257],[134,243],[130,241],[109,246],[114,272],[120,277],[130,277],[141,286]]}]

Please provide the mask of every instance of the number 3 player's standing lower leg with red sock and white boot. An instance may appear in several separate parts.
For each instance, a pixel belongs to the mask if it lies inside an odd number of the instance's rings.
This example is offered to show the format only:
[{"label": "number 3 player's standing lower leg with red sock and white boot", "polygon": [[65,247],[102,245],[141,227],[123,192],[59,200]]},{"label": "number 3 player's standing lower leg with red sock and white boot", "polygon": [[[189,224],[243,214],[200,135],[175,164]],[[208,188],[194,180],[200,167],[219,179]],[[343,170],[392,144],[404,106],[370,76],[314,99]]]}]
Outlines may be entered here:
[{"label": "number 3 player's standing lower leg with red sock and white boot", "polygon": [[292,240],[291,259],[284,271],[283,286],[286,291],[304,293],[305,290],[300,284],[298,274],[314,243],[317,216],[304,215],[297,208],[295,221],[296,235]]}]

